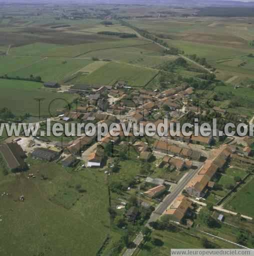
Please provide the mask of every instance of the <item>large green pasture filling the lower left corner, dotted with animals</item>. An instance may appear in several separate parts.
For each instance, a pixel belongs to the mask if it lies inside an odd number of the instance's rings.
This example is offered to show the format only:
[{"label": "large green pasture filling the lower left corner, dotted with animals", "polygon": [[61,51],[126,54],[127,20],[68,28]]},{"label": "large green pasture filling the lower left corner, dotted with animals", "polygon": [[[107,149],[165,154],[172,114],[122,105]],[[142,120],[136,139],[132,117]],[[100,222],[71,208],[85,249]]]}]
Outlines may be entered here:
[{"label": "large green pasture filling the lower left corner, dotted with animals", "polygon": [[10,194],[0,198],[1,255],[95,255],[109,231],[103,174],[29,163],[35,179],[27,173],[1,177],[1,191]]}]

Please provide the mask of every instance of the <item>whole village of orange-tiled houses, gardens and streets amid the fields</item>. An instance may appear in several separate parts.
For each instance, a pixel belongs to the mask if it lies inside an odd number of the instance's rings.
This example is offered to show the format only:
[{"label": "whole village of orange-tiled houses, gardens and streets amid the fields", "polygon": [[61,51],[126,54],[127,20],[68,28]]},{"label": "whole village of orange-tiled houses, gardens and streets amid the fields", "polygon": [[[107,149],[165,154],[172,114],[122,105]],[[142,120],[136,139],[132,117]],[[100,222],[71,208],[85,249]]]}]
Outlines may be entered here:
[{"label": "whole village of orange-tiled houses, gardens and streets amid the fields", "polygon": [[[58,84],[49,82],[44,86],[57,88]],[[85,90],[69,87],[67,92],[79,94],[76,106],[52,117],[52,121],[108,125],[152,122],[157,127],[163,118],[174,123],[186,116],[191,121],[193,116],[207,113],[207,109],[194,103],[193,89],[187,83],[159,91],[134,89],[124,81],[117,81],[113,86],[87,86]],[[209,111],[226,116],[218,107]],[[41,129],[43,125],[42,121]],[[142,225],[154,223],[161,216],[190,228],[196,214],[207,205],[216,221],[223,221],[224,215],[240,215],[245,221],[252,221],[251,216],[224,207],[237,187],[252,175],[252,143],[248,136],[135,137],[130,132],[125,137],[121,130],[119,136],[108,133],[101,141],[96,140],[96,135],[85,134],[57,140],[42,136],[10,137],[0,145],[0,152],[8,168],[17,175],[25,173],[27,179],[39,178],[38,173],[30,173],[27,156],[43,162],[54,161],[64,168],[102,172],[114,194],[111,207],[120,216],[116,220],[119,228],[141,220]],[[122,161],[131,178],[121,176]],[[219,177],[231,176],[230,170],[242,166],[244,174],[234,176],[233,183],[218,182]],[[4,191],[2,196],[5,195]],[[20,194],[19,199],[25,200],[26,195]]]}]

